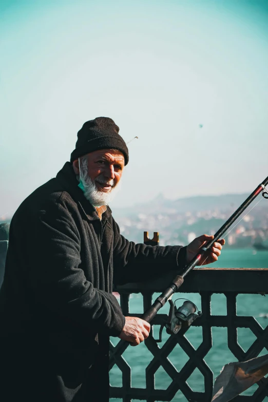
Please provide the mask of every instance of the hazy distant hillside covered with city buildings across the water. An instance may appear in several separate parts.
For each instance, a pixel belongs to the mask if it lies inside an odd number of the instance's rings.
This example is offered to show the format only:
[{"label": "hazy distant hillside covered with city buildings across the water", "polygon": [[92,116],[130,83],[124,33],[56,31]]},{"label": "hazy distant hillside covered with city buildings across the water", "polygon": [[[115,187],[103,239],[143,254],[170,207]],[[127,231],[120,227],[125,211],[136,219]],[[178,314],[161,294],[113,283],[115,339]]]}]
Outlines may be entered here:
[{"label": "hazy distant hillside covered with city buildings across the water", "polygon": [[[185,245],[188,244],[189,235],[216,233],[247,197],[248,194],[223,194],[168,200],[160,194],[150,202],[128,208],[112,207],[112,212],[127,239],[140,242],[143,231],[159,232],[161,245]],[[258,196],[236,221],[235,225],[239,226],[229,239],[228,246],[251,246],[256,236],[263,241],[268,234],[267,212],[268,203]],[[247,219],[244,219],[247,214]]]}]

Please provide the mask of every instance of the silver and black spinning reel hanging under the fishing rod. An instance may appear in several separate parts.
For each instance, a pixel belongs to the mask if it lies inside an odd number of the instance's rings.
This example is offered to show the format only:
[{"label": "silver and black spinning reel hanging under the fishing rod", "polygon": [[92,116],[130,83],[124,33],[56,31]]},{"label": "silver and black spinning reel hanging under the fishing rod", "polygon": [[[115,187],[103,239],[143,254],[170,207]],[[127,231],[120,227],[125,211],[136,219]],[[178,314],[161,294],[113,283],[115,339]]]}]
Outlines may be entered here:
[{"label": "silver and black spinning reel hanging under the fishing rod", "polygon": [[[177,309],[176,301],[177,300],[185,300],[184,303]],[[178,334],[181,331],[182,335],[188,330],[190,325],[199,317],[201,317],[202,313],[198,310],[196,305],[187,299],[179,298],[175,300],[168,300],[170,304],[169,313],[167,322],[162,324],[159,330],[159,339],[156,339],[156,342],[162,342],[162,332],[163,329],[166,329],[167,334]],[[198,312],[195,314],[195,312]]]}]

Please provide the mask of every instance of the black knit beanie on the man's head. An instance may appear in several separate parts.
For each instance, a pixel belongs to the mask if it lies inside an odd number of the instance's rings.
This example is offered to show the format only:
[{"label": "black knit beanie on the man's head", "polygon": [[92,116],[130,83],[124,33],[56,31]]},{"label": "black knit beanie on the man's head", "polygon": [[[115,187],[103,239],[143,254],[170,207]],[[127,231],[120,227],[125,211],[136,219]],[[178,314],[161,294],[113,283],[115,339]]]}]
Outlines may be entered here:
[{"label": "black knit beanie on the man's head", "polygon": [[108,117],[97,117],[84,123],[77,133],[77,141],[71,153],[70,162],[98,149],[118,149],[124,154],[125,165],[127,165],[128,149],[118,132],[119,127]]}]

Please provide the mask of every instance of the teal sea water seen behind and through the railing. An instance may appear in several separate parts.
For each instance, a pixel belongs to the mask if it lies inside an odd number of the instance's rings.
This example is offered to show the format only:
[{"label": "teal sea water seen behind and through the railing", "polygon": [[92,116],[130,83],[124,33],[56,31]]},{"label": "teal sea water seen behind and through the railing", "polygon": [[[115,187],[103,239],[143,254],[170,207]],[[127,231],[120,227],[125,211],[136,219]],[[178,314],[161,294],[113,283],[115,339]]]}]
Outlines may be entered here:
[{"label": "teal sea water seen behind and through the railing", "polygon": [[[209,267],[226,267],[226,268],[268,268],[268,251],[253,251],[252,249],[241,250],[224,250],[219,260],[210,264]],[[185,279],[187,280],[187,279]],[[155,294],[157,297],[157,294]],[[201,308],[200,296],[197,294],[180,294],[180,297],[186,297],[197,304]],[[165,306],[162,309],[163,313],[168,311]],[[140,294],[132,295],[130,298],[130,312],[142,313],[142,296]],[[261,295],[238,295],[237,297],[237,314],[245,316],[254,316],[260,325],[265,328],[268,324],[268,318],[261,317],[263,313],[268,313],[268,296]],[[223,294],[214,294],[212,296],[212,314],[226,315],[226,298]],[[154,333],[158,336],[159,326],[155,326]],[[227,347],[227,329],[212,328],[213,332],[213,347],[205,356],[205,362],[212,369],[214,379],[220,373],[222,367],[231,361],[236,361],[235,356]],[[202,329],[200,327],[192,327],[187,332],[187,338],[192,343],[194,348],[198,348],[202,342]],[[159,343],[161,348],[169,335],[163,331],[163,342]],[[250,329],[238,329],[238,342],[244,351],[251,346],[256,337]],[[113,344],[117,344],[118,338],[111,338]],[[261,355],[267,354],[268,351],[263,349]],[[145,344],[141,343],[137,347],[129,347],[123,354],[123,357],[131,367],[131,384],[132,387],[146,387],[145,368],[152,359],[152,354],[146,349]],[[173,352],[169,355],[169,360],[178,371],[182,369],[188,360],[187,354],[177,345]],[[156,388],[166,389],[171,382],[171,378],[160,367],[156,372]],[[188,385],[198,392],[204,391],[204,377],[198,369],[188,379]],[[110,384],[114,387],[122,386],[122,373],[118,367],[114,367],[110,372]],[[243,395],[252,395],[257,385],[246,390]],[[113,402],[122,399],[110,399]],[[173,401],[187,402],[187,399],[179,391]],[[268,402],[268,397],[265,397],[265,402]]]}]

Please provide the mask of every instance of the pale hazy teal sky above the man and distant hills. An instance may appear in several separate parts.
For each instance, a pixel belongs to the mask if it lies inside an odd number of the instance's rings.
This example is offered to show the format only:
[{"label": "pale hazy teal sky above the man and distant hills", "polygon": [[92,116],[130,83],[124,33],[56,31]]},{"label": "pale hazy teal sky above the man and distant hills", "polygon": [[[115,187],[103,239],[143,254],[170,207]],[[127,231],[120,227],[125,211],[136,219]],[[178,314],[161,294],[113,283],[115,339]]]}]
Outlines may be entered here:
[{"label": "pale hazy teal sky above the man and distant hills", "polygon": [[98,116],[139,137],[113,205],[251,192],[268,175],[267,1],[2,0],[0,35],[0,216]]}]

